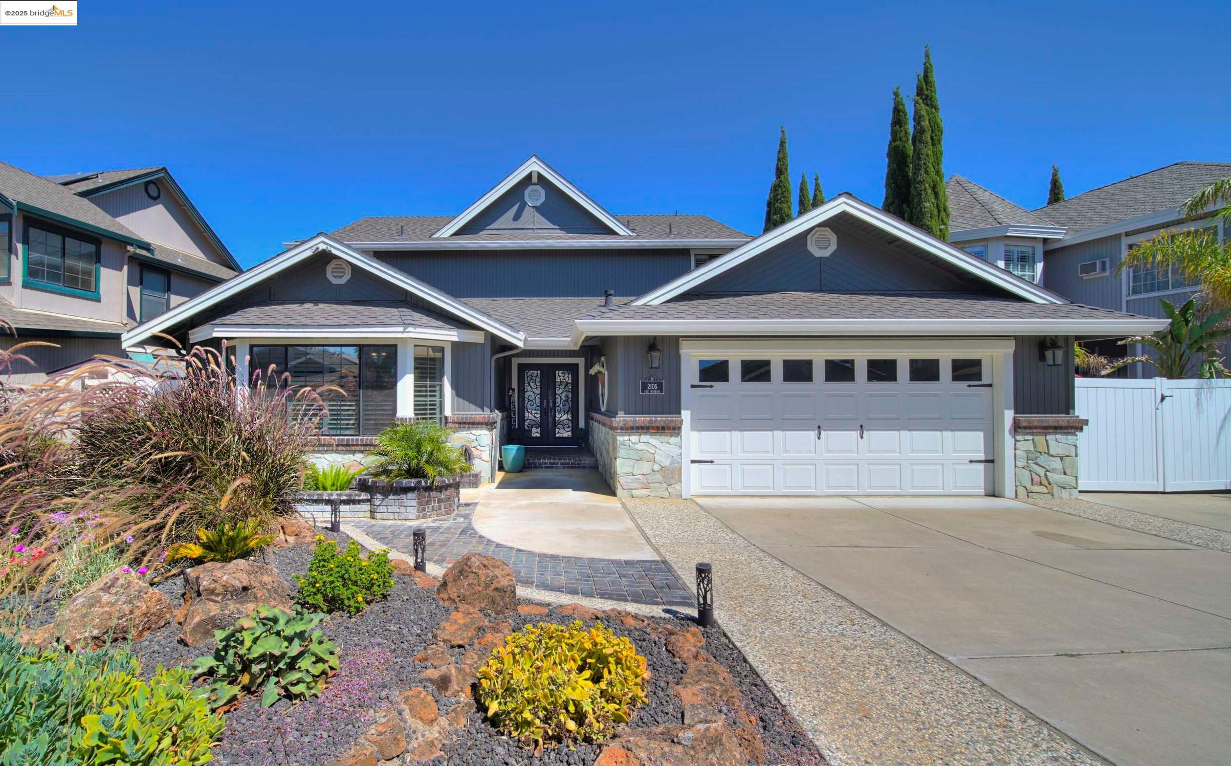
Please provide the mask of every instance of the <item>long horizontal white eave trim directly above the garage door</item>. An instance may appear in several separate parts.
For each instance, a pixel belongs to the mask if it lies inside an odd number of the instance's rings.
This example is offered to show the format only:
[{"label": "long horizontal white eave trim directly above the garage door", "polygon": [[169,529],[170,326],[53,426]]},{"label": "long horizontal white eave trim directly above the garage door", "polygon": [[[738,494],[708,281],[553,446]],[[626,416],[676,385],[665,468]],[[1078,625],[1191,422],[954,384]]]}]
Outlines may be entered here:
[{"label": "long horizontal white eave trim directly above the garage door", "polygon": [[579,319],[574,342],[590,335],[1140,335],[1166,319]]}]

